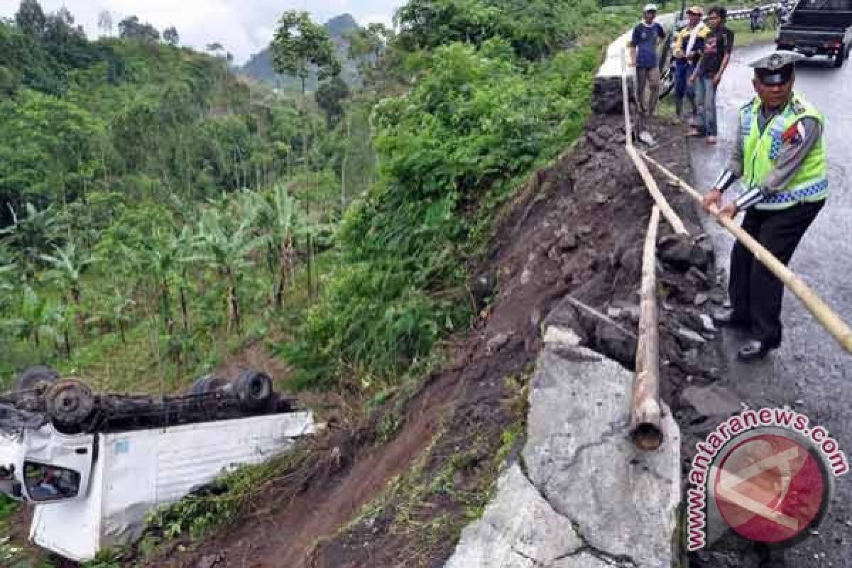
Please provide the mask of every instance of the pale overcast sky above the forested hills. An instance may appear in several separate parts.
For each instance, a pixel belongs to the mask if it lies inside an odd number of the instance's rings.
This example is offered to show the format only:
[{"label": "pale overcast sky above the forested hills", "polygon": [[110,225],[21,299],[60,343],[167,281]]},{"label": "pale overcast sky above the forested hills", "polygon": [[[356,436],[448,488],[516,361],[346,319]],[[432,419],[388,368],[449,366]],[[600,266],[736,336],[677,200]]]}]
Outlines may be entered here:
[{"label": "pale overcast sky above the forested hills", "polygon": [[[288,9],[308,10],[314,20],[325,21],[337,14],[352,14],[360,24],[390,24],[394,9],[404,0],[41,0],[45,13],[65,6],[89,37],[100,35],[97,21],[101,10],[112,14],[115,26],[128,15],[139,16],[160,32],[175,26],[182,45],[204,49],[219,42],[233,53],[237,63],[265,48],[275,24]],[[0,16],[12,17],[20,0],[0,0]]]}]

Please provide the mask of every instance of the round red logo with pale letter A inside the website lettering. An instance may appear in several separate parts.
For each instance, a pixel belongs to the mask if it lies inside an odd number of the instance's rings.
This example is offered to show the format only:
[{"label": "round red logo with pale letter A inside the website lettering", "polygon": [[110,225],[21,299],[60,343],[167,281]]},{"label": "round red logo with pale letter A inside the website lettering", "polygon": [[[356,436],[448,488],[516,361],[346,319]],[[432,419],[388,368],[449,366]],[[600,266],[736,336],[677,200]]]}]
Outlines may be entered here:
[{"label": "round red logo with pale letter A inside the website lettering", "polygon": [[784,547],[820,524],[832,478],[818,450],[798,438],[759,428],[717,456],[712,493],[722,519],[740,536]]}]

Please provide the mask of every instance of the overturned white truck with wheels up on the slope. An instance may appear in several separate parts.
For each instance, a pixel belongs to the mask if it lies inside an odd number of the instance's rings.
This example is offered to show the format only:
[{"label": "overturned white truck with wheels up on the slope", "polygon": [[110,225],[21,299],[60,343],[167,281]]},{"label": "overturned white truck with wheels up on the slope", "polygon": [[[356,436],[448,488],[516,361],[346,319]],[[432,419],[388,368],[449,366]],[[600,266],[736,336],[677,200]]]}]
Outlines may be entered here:
[{"label": "overturned white truck with wheels up on the slope", "polygon": [[154,508],[311,433],[312,413],[250,370],[155,399],[95,395],[41,367],[0,396],[0,491],[35,508],[32,542],[85,561],[135,542]]}]

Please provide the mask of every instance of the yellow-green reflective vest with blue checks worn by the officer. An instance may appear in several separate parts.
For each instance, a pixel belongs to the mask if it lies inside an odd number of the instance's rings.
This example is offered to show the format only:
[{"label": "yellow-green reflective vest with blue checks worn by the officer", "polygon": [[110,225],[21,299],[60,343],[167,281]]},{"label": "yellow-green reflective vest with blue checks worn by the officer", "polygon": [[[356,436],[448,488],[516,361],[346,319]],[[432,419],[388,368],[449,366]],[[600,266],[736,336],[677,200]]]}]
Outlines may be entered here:
[{"label": "yellow-green reflective vest with blue checks worn by the officer", "polygon": [[[763,134],[757,126],[761,100],[755,97],[740,108],[740,128],[743,136],[743,176],[742,181],[751,189],[763,186],[769,171],[778,162],[785,133],[800,119],[815,118],[820,126],[825,118],[801,96],[793,93],[790,103],[763,128]],[[826,149],[822,137],[810,149],[803,163],[790,181],[780,192],[770,193],[769,197],[756,204],[757,209],[786,209],[800,202],[820,201],[828,196],[828,167]]]}]

